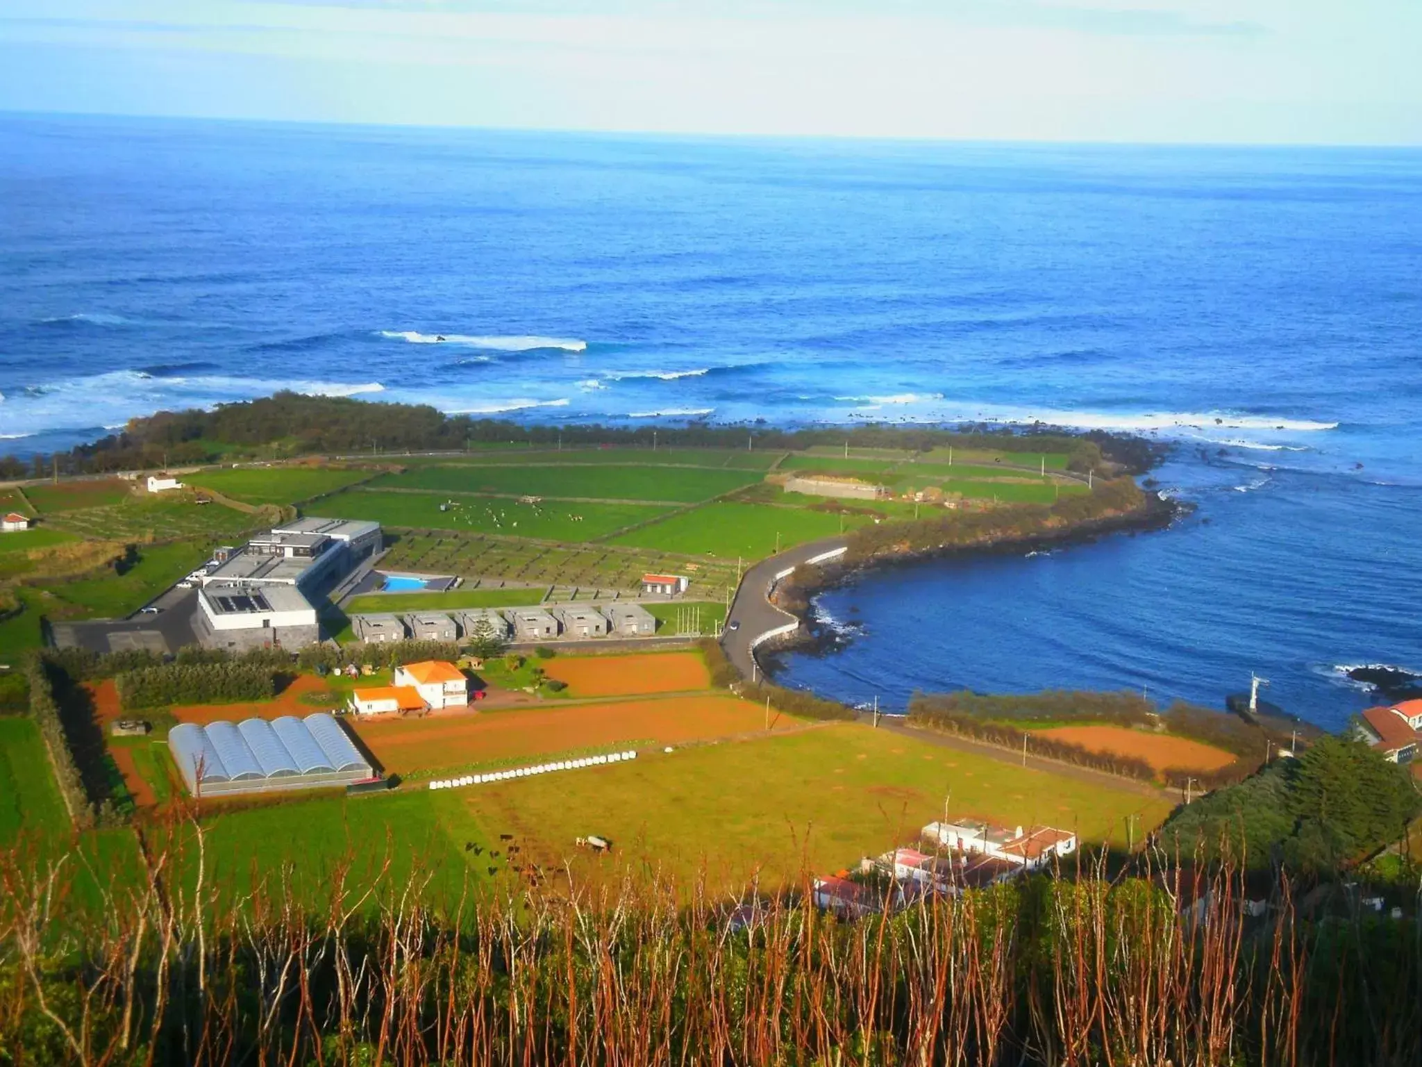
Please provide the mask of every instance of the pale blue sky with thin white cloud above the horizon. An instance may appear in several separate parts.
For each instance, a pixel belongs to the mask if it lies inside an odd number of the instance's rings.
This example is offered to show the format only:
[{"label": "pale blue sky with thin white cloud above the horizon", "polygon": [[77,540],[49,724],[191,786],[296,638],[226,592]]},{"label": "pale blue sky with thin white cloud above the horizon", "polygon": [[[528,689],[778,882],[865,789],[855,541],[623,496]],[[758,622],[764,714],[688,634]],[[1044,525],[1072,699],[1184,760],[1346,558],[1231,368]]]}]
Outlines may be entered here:
[{"label": "pale blue sky with thin white cloud above the horizon", "polygon": [[1422,144],[1422,0],[0,0],[0,110]]}]

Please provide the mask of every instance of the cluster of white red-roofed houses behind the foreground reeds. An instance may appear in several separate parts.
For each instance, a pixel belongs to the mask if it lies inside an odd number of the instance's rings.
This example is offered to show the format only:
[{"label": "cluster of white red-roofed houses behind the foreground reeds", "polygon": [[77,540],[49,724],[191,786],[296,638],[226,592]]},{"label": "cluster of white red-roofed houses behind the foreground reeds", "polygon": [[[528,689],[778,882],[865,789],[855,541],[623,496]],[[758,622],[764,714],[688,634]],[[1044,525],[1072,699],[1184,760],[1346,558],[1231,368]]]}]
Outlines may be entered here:
[{"label": "cluster of white red-roofed houses behind the foreground reeds", "polygon": [[1054,827],[994,827],[987,822],[930,822],[923,846],[894,848],[865,858],[856,881],[848,874],[816,878],[816,908],[846,919],[906,908],[930,895],[981,889],[1018,878],[1076,851],[1076,835]]}]

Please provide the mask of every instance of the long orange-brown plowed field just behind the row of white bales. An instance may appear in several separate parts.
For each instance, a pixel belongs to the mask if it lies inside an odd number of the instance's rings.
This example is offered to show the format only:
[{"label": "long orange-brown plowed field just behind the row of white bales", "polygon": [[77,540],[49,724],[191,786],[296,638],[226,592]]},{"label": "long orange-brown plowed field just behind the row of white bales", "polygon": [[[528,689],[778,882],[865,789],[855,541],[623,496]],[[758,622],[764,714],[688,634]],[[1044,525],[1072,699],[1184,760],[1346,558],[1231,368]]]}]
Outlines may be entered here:
[{"label": "long orange-brown plowed field just behind the row of white bales", "polygon": [[[765,728],[765,710],[728,696],[661,697],[353,723],[387,773],[499,764],[614,744],[658,745]],[[781,716],[776,728],[801,726]]]}]

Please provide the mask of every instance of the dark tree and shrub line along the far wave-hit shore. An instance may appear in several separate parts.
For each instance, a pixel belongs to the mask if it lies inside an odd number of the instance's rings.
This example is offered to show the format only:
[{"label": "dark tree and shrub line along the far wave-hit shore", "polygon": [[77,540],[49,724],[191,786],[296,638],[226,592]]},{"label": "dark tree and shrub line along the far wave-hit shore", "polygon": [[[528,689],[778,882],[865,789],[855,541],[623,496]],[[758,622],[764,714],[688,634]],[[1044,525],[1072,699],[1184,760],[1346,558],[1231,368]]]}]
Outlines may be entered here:
[{"label": "dark tree and shrub line along the far wave-hit shore", "polygon": [[277,393],[259,400],[219,404],[210,411],[159,411],[132,418],[124,430],[67,452],[36,454],[28,460],[0,458],[0,478],[40,478],[58,474],[108,474],[164,465],[215,462],[253,455],[280,444],[289,454],[462,451],[476,444],[529,445],[661,445],[795,450],[812,445],[929,451],[994,448],[1001,451],[1065,452],[1074,471],[1102,469],[1105,461],[1142,474],[1163,450],[1139,437],[1091,431],[1071,434],[1044,424],[1030,427],[866,425],[838,430],[781,430],[754,425],[616,427],[600,424],[542,425],[509,420],[447,415],[422,404],[387,404],[353,397],[307,397]]}]

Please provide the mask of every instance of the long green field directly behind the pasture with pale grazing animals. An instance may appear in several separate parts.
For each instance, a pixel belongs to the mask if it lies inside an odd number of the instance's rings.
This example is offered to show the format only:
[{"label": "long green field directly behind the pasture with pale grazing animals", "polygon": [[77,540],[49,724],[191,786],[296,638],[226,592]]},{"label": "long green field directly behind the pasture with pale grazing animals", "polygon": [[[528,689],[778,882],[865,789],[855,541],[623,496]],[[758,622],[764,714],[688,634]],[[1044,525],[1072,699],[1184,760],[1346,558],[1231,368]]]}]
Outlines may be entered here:
[{"label": "long green field directly behind the pasture with pale grazing animals", "polygon": [[439,492],[501,492],[530,497],[577,497],[694,504],[758,481],[754,471],[690,467],[422,467],[387,475],[377,487]]}]

